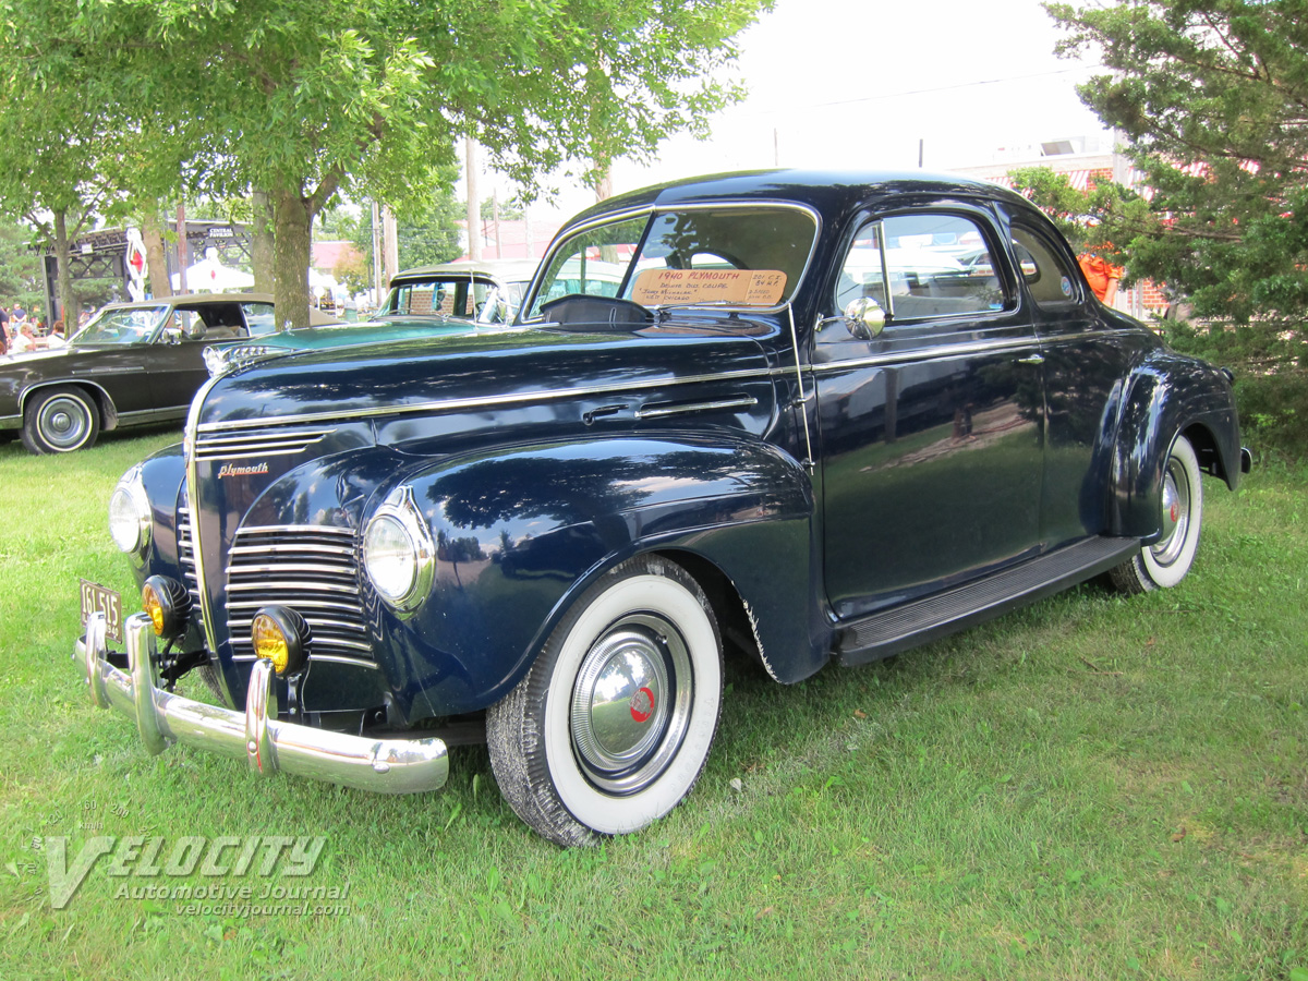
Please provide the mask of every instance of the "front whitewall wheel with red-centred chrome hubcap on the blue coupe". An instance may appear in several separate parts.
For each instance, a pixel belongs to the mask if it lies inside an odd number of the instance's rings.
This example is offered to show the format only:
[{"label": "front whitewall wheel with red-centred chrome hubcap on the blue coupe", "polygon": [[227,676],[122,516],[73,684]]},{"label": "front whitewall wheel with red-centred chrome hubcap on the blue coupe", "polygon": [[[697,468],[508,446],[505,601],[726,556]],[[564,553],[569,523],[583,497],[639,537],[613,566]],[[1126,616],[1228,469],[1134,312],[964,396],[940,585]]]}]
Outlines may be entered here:
[{"label": "front whitewall wheel with red-centred chrome hubcap on the blue coupe", "polygon": [[721,705],[722,641],[704,590],[675,562],[641,556],[577,600],[488,710],[490,766],[536,832],[594,844],[691,793]]}]

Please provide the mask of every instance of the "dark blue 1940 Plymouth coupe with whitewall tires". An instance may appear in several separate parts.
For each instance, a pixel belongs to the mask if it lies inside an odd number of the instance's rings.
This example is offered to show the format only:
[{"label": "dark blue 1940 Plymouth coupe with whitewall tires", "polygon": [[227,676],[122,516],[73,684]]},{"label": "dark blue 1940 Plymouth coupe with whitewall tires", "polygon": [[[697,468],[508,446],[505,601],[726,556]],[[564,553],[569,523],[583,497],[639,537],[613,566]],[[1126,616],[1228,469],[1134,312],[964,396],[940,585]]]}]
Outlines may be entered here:
[{"label": "dark blue 1940 Plymouth coupe with whitewall tires", "polygon": [[[519,324],[211,381],[84,585],[92,698],[178,742],[388,793],[481,736],[545,837],[672,810],[723,650],[793,683],[1107,573],[1176,586],[1227,373],[1101,306],[1039,211],[904,174],[637,191],[556,238]],[[222,705],[182,697],[196,671]]]}]

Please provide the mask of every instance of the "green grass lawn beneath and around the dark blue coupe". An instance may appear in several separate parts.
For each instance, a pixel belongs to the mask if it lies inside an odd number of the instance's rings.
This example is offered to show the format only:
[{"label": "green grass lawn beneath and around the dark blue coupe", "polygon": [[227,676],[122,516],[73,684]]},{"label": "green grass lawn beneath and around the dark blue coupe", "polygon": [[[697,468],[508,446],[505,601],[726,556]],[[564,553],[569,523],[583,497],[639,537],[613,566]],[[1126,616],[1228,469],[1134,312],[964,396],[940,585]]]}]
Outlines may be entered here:
[{"label": "green grass lawn beneath and around the dark blue coupe", "polygon": [[[1303,467],[1239,496],[1206,480],[1176,590],[1086,585],[790,688],[729,664],[687,803],[565,852],[509,811],[481,748],[451,751],[445,790],[386,798],[150,757],[89,704],[77,578],[135,610],[106,502],[177,438],[0,445],[0,977],[1308,981]],[[250,836],[326,844],[301,878],[111,875],[106,855],[52,908],[52,848],[72,863],[101,836],[165,857],[232,836],[228,866]],[[288,909],[173,895],[199,887]]]}]

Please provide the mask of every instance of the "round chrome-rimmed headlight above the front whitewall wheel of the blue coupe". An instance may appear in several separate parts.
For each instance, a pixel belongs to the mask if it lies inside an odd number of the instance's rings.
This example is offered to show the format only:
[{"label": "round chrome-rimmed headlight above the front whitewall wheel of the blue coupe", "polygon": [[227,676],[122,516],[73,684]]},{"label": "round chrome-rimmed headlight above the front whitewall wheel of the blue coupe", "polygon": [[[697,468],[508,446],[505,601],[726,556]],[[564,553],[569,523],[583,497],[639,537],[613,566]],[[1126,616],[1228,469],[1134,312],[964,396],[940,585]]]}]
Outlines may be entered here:
[{"label": "round chrome-rimmed headlight above the front whitewall wheel of the blue coupe", "polygon": [[[378,598],[411,616],[426,600],[436,581],[436,542],[413,501],[413,490],[396,488],[364,527],[361,565]],[[402,568],[386,568],[400,561]]]}]

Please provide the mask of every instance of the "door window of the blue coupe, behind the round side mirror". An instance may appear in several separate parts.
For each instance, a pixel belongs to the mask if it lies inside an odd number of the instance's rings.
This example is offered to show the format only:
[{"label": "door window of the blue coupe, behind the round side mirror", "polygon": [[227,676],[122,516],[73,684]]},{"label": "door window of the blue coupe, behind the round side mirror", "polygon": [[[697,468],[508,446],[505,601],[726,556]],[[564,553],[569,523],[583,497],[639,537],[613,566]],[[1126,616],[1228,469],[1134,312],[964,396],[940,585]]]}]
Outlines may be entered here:
[{"label": "door window of the blue coupe, behind the round side mirror", "polygon": [[836,305],[870,297],[891,323],[1003,310],[1008,297],[980,226],[961,215],[896,215],[854,238]]}]

